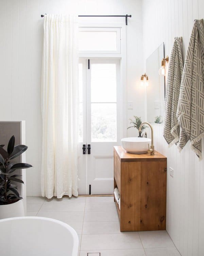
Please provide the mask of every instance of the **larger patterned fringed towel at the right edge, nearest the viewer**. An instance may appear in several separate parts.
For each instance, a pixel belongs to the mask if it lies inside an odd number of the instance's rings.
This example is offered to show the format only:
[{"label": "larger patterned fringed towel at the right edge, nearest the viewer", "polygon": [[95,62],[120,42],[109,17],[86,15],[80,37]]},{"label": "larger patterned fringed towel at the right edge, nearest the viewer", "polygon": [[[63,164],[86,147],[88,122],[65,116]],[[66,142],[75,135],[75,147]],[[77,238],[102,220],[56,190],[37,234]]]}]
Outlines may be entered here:
[{"label": "larger patterned fringed towel at the right edge, nearest the viewer", "polygon": [[190,140],[191,149],[202,158],[204,137],[204,28],[195,20],[184,63],[176,114],[180,125],[180,150]]}]

